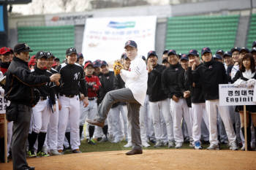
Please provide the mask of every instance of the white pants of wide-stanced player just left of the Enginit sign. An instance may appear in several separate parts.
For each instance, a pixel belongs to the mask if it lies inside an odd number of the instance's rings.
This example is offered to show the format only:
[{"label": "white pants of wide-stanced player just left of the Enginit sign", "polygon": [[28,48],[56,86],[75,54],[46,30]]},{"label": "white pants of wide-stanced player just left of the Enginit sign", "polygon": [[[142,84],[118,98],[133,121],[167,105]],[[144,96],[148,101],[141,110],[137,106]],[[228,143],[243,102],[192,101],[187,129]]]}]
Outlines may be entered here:
[{"label": "white pants of wide-stanced player just left of the Enginit sign", "polygon": [[209,118],[209,133],[210,143],[218,144],[218,131],[217,131],[217,109],[219,109],[219,115],[225,125],[227,138],[229,142],[236,142],[236,134],[233,129],[233,125],[230,120],[230,113],[228,107],[219,106],[219,99],[206,100],[206,110]]}]

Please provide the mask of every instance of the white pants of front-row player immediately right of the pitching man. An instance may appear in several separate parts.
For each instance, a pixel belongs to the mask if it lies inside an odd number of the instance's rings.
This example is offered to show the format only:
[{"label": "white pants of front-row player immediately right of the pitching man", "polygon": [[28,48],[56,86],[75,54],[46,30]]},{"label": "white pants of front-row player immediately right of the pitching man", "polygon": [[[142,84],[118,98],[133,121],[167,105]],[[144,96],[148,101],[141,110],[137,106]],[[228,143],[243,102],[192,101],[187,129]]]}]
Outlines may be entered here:
[{"label": "white pants of front-row player immediately right of the pitching man", "polygon": [[151,112],[153,126],[154,126],[154,134],[156,136],[157,141],[165,140],[163,139],[164,131],[162,129],[163,123],[161,123],[161,115],[165,120],[166,130],[167,130],[167,138],[169,141],[173,141],[173,117],[170,112],[170,98],[166,98],[162,101],[149,101],[149,112]]}]

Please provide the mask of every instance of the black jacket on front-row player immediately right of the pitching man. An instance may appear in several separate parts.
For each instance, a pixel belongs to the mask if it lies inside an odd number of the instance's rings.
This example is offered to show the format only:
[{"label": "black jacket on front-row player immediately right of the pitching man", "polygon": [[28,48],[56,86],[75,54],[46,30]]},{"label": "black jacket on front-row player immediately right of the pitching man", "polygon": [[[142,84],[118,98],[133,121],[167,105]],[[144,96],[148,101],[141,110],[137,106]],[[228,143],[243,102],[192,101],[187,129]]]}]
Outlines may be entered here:
[{"label": "black jacket on front-row player immediately right of the pitching man", "polygon": [[154,69],[148,73],[148,100],[162,101],[167,98],[167,94],[162,89],[162,72],[165,66],[157,64]]}]

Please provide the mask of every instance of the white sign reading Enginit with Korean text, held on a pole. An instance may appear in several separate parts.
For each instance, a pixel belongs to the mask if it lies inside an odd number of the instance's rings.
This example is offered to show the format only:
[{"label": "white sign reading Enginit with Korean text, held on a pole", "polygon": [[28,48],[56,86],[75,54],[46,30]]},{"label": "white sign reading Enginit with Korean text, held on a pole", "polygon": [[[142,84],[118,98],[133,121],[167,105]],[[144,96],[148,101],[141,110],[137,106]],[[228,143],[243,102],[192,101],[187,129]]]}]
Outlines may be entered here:
[{"label": "white sign reading Enginit with Korean text, held on a pole", "polygon": [[236,88],[232,84],[219,85],[219,105],[255,105],[253,91],[254,88]]}]

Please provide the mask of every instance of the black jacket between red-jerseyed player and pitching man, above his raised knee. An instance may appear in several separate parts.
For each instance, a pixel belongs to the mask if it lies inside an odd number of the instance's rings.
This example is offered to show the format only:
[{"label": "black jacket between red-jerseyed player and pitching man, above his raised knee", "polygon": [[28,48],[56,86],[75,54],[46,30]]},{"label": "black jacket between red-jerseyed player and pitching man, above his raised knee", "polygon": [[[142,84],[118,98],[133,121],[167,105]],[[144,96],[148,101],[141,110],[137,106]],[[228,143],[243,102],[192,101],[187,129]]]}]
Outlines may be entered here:
[{"label": "black jacket between red-jerseyed player and pitching man, above his raised knee", "polygon": [[[108,72],[108,74],[102,74],[102,77],[99,80],[100,83],[102,84],[102,88],[99,89],[99,103],[102,102],[106,93],[108,93],[111,90],[116,90],[113,85],[114,79],[115,79],[115,74],[112,71]],[[117,106],[118,106],[118,103],[113,104],[112,108]]]}]

